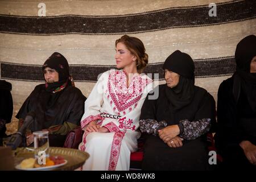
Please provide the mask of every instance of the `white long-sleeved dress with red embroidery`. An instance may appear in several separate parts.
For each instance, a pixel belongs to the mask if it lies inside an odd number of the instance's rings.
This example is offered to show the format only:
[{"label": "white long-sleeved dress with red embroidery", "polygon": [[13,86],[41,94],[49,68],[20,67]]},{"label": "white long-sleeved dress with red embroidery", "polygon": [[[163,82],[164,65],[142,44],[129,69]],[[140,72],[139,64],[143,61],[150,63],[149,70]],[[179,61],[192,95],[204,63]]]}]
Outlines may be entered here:
[{"label": "white long-sleeved dress with red embroidery", "polygon": [[[83,170],[129,170],[130,152],[137,150],[140,133],[141,107],[152,90],[152,80],[146,75],[134,76],[126,87],[123,71],[102,73],[85,101],[81,127],[97,120],[110,133],[93,132],[83,136],[79,149],[89,153]],[[119,119],[101,117],[102,113],[121,116]]]}]

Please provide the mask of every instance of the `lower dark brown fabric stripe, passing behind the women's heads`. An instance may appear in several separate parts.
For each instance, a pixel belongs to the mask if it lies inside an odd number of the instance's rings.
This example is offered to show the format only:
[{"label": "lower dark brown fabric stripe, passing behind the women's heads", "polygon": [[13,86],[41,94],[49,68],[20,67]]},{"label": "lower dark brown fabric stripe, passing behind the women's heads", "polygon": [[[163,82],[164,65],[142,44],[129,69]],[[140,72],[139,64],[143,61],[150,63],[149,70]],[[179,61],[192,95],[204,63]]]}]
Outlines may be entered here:
[{"label": "lower dark brown fabric stripe, passing behind the women's heads", "polygon": [[[148,64],[145,73],[159,73],[159,78],[163,79],[163,63]],[[209,60],[195,61],[196,77],[212,77],[230,75],[236,69],[234,57],[219,57]],[[98,75],[109,69],[114,69],[114,65],[70,65],[70,73],[76,81],[97,81]],[[154,74],[152,75],[154,77]],[[14,80],[42,81],[43,73],[41,65],[22,65],[12,63],[1,63],[1,77]]]}]

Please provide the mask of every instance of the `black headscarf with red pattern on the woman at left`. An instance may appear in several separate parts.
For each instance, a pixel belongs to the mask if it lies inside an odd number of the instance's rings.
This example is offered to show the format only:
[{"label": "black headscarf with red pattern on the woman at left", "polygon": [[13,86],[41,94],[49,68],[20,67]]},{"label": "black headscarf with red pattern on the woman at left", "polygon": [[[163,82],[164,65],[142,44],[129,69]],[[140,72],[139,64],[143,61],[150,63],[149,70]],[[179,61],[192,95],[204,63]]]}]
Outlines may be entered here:
[{"label": "black headscarf with red pattern on the woman at left", "polygon": [[46,90],[47,92],[54,92],[58,88],[63,88],[67,86],[67,84],[71,84],[69,81],[69,65],[67,59],[59,52],[54,52],[46,62],[43,64],[42,70],[46,67],[51,69],[55,69],[59,73],[59,81],[56,82],[46,82]]}]

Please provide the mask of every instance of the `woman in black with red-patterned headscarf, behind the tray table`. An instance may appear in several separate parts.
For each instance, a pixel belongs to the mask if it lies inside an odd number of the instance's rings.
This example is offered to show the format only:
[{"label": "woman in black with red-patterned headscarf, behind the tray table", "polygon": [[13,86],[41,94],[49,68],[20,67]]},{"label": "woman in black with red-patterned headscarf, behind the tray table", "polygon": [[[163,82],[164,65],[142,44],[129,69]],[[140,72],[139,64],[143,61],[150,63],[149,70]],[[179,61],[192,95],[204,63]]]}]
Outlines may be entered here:
[{"label": "woman in black with red-patterned headscarf, behind the tray table", "polygon": [[60,53],[53,53],[42,71],[46,84],[37,85],[20,108],[16,115],[18,127],[34,111],[36,116],[27,134],[27,144],[33,142],[32,132],[48,130],[49,145],[63,147],[68,132],[80,125],[86,97],[73,84],[68,61]]}]

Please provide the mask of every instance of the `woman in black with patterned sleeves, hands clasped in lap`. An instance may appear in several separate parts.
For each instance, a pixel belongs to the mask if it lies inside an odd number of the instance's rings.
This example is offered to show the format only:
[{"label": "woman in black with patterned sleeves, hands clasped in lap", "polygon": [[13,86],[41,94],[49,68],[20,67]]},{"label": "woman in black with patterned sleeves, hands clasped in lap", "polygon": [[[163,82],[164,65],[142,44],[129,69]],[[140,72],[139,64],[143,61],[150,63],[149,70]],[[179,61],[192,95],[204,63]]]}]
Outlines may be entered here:
[{"label": "woman in black with patterned sleeves, hands clasped in lap", "polygon": [[175,51],[163,65],[166,84],[156,100],[148,94],[141,110],[140,129],[150,134],[144,144],[144,170],[208,169],[206,134],[215,119],[215,101],[195,86],[193,60]]}]

